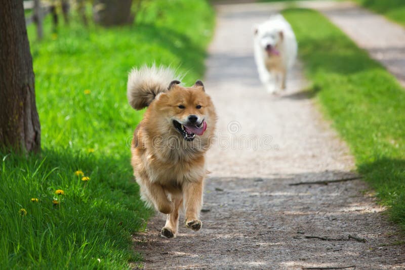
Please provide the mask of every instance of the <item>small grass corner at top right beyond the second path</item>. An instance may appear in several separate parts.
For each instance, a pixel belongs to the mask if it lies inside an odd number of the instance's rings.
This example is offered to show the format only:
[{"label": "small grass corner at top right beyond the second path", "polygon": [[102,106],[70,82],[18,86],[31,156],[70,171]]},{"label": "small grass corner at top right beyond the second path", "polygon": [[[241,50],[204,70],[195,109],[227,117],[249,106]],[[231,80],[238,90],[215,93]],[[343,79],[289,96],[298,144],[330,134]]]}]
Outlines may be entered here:
[{"label": "small grass corner at top right beyond the second path", "polygon": [[405,1],[403,0],[354,0],[354,2],[405,26]]}]

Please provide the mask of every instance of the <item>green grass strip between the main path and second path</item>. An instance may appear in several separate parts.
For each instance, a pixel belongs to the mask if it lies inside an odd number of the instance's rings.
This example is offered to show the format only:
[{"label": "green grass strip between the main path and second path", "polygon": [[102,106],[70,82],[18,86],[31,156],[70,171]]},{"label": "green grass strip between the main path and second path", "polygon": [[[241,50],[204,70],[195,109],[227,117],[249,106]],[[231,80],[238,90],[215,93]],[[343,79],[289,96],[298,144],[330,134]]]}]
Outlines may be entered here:
[{"label": "green grass strip between the main path and second path", "polygon": [[350,146],[359,173],[405,229],[404,89],[319,13],[283,14],[296,33],[313,94]]}]

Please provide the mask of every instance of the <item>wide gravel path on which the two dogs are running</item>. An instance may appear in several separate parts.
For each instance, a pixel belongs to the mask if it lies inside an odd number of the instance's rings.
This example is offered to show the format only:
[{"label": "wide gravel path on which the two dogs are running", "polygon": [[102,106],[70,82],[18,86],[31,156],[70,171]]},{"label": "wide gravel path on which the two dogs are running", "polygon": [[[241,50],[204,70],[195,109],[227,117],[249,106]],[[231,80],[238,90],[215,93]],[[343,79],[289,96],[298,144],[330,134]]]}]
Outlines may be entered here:
[{"label": "wide gravel path on which the two dogs are running", "polygon": [[[299,65],[279,96],[267,94],[258,80],[252,25],[276,8],[217,6],[204,83],[219,115],[218,140],[208,155],[212,173],[203,228],[194,233],[181,227],[169,240],[159,236],[165,217],[152,218],[147,230],[134,236],[146,269],[405,267],[398,230],[367,195],[365,183],[289,185],[350,177],[354,165],[347,146],[302,92]],[[246,141],[250,144],[239,145]]]}]

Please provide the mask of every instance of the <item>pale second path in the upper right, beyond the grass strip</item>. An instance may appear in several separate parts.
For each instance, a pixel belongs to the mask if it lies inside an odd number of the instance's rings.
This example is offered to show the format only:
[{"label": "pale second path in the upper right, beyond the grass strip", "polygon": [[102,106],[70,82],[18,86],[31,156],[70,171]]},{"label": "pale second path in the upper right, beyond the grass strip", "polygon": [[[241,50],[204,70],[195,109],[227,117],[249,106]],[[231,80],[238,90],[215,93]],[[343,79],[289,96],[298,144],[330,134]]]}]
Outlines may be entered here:
[{"label": "pale second path in the upper right, beyond the grass strip", "polygon": [[309,1],[301,7],[326,15],[405,87],[405,28],[352,2]]}]

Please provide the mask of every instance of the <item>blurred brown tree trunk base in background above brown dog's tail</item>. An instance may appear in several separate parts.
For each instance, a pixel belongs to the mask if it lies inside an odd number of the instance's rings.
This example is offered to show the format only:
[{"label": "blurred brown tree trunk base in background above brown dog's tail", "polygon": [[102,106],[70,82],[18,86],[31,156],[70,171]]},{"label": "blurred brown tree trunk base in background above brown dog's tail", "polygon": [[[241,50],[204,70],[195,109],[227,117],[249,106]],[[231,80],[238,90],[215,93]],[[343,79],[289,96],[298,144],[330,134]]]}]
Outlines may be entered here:
[{"label": "blurred brown tree trunk base in background above brown dog's tail", "polygon": [[94,21],[103,26],[132,24],[131,5],[132,0],[95,0]]}]

